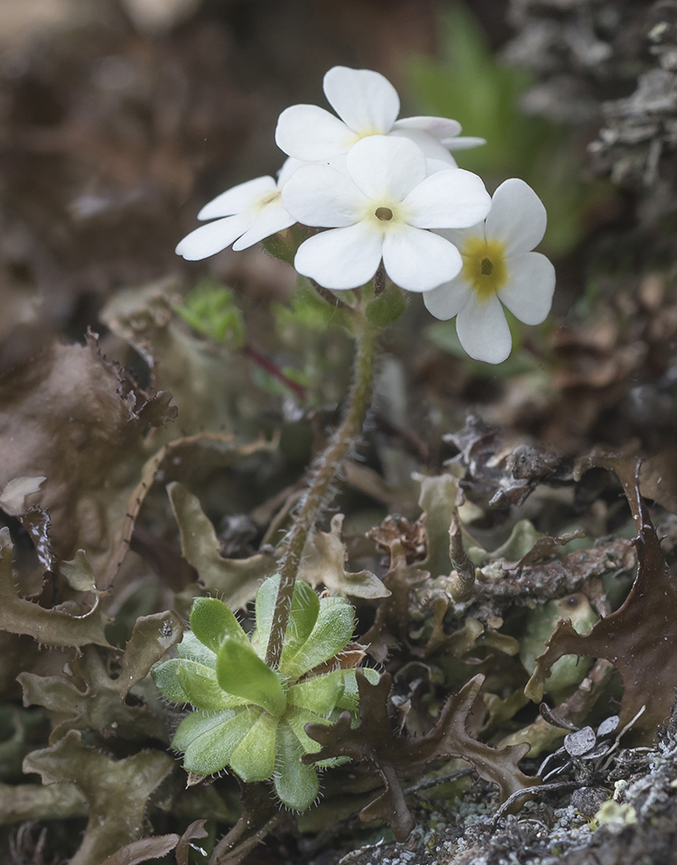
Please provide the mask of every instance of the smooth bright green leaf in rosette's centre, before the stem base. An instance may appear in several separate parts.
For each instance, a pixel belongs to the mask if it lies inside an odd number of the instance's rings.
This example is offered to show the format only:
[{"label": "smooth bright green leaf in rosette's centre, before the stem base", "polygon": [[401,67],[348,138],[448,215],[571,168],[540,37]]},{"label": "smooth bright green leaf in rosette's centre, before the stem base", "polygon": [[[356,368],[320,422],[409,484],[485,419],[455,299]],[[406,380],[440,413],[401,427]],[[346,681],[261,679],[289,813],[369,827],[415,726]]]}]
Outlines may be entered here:
[{"label": "smooth bright green leaf in rosette's centre, before the stem base", "polygon": [[282,682],[249,643],[226,639],[217,657],[218,684],[279,717],[287,706]]}]

